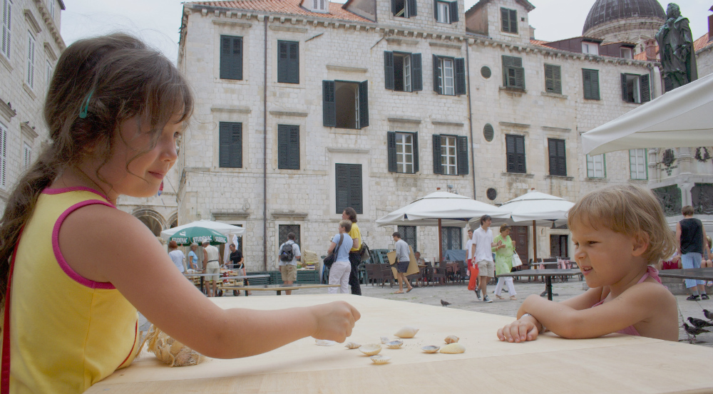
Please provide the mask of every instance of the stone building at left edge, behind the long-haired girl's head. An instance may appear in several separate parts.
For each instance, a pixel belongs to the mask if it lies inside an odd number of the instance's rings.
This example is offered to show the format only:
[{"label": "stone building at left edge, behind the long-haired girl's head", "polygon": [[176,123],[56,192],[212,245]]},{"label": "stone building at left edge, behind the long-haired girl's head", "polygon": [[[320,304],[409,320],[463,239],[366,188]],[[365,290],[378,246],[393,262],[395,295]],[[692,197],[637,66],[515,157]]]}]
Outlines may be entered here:
[{"label": "stone building at left edge, behind the long-haired girl's head", "polygon": [[48,139],[46,91],[65,48],[62,0],[0,0],[0,211]]}]

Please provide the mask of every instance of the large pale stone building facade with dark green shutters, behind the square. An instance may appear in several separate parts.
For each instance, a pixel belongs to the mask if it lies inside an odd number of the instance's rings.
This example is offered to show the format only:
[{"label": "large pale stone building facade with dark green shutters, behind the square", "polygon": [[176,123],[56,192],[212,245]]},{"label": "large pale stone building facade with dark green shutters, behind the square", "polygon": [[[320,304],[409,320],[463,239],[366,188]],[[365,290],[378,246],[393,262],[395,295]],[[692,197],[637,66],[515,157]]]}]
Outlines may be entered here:
[{"label": "large pale stone building facade with dark green shutters, behind the square", "polygon": [[[657,64],[530,40],[533,8],[184,4],[178,66],[197,101],[178,158],[178,222],[246,227],[248,268],[272,269],[288,231],[303,250],[326,252],[350,205],[381,249],[397,228],[374,221],[438,188],[501,204],[532,188],[575,201],[604,185],[646,185],[645,150],[587,157],[580,134],[660,95]],[[434,227],[399,231],[438,254]],[[528,236],[520,228],[523,257]],[[446,249],[464,237],[446,229]],[[540,257],[568,256],[569,243],[566,229],[538,228]]]}]

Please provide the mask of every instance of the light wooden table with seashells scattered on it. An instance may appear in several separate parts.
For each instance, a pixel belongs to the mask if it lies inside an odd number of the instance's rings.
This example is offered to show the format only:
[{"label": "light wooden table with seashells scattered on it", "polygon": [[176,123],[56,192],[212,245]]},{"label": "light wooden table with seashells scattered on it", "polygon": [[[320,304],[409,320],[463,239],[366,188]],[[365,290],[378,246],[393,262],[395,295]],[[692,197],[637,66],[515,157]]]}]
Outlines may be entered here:
[{"label": "light wooden table with seashells scattered on it", "polygon": [[[402,326],[420,328],[400,349],[384,348],[391,363],[375,365],[343,345],[317,346],[302,338],[269,353],[207,360],[169,368],[153,354],[118,370],[86,393],[710,393],[713,349],[611,334],[566,340],[545,333],[537,341],[498,341],[513,318],[366,296],[303,295],[211,299],[222,308],[281,309],[345,300],[359,309],[352,338],[361,344],[394,338]],[[426,354],[456,335],[462,354]],[[533,366],[535,368],[533,368]]]}]

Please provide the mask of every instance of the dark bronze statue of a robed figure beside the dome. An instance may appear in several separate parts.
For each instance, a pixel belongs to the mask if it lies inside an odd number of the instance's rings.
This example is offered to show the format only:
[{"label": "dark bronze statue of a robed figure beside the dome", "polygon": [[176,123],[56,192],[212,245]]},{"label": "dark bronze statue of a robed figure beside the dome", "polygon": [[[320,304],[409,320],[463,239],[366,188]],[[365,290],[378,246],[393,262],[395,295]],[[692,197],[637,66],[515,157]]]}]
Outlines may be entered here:
[{"label": "dark bronze statue of a robed figure beside the dome", "polygon": [[696,53],[688,19],[681,16],[679,6],[670,3],[666,22],[656,33],[659,54],[664,67],[666,90],[672,90],[698,79]]}]

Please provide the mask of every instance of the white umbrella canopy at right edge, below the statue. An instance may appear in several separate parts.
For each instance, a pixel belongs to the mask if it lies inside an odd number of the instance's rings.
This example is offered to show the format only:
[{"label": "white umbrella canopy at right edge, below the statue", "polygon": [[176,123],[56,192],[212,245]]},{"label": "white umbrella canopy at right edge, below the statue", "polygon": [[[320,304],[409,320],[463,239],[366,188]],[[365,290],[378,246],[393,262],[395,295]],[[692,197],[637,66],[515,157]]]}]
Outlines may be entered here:
[{"label": "white umbrella canopy at right edge, below the statue", "polygon": [[713,145],[713,74],[582,135],[588,155],[643,147]]}]

